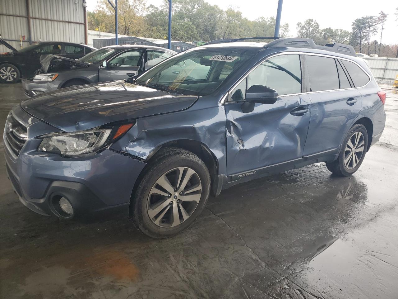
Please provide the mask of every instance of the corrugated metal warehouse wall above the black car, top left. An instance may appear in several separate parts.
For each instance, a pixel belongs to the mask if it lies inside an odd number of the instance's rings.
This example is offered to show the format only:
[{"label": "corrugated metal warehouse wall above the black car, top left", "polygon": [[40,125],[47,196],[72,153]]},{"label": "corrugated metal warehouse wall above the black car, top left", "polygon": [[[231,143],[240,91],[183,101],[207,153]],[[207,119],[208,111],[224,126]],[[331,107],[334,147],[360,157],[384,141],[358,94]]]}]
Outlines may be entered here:
[{"label": "corrugated metal warehouse wall above the black car, top left", "polygon": [[34,41],[87,44],[86,28],[86,0],[0,0],[0,34],[16,49]]}]

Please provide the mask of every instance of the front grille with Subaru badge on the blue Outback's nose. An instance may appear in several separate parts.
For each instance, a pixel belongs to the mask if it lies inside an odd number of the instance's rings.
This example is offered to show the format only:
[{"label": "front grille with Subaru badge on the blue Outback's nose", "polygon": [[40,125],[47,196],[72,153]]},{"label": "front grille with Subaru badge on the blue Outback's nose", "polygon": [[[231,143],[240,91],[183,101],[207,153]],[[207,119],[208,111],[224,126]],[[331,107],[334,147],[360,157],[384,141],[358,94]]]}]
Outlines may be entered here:
[{"label": "front grille with Subaru badge on the blue Outback's nose", "polygon": [[4,137],[14,155],[18,156],[27,140],[27,128],[12,113],[8,114]]}]

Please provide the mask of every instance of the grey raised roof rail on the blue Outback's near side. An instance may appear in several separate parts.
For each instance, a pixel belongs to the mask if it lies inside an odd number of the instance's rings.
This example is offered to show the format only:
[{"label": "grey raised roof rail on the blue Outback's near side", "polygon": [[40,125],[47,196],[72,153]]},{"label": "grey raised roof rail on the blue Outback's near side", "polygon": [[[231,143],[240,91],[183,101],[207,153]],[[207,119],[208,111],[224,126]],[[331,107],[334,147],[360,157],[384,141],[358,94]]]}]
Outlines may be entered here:
[{"label": "grey raised roof rail on the blue Outback's near side", "polygon": [[283,37],[267,43],[264,47],[294,47],[294,48],[307,48],[307,49],[320,49],[326,51],[332,51],[345,55],[357,56],[353,46],[345,45],[343,43],[332,43],[328,45],[316,45],[312,38],[300,38],[300,37]]}]

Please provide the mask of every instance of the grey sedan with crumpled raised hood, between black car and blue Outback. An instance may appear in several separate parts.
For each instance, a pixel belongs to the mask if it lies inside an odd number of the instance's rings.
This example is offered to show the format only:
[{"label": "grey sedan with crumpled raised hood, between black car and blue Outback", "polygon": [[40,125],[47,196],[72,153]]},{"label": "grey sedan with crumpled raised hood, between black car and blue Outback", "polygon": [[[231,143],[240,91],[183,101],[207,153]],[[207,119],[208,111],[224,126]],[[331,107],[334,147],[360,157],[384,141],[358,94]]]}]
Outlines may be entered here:
[{"label": "grey sedan with crumpled raised hood, between black car and blue Outback", "polygon": [[127,79],[171,57],[177,52],[142,45],[103,47],[76,61],[48,55],[33,79],[22,81],[28,97],[52,90],[112,80]]}]

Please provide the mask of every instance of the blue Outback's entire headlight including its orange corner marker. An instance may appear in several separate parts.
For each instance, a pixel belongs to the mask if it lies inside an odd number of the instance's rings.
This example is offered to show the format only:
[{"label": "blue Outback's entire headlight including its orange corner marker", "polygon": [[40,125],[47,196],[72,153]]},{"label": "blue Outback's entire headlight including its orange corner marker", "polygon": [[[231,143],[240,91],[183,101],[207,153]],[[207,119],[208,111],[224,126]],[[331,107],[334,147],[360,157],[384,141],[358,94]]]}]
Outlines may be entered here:
[{"label": "blue Outback's entire headlight including its orange corner marker", "polygon": [[76,156],[93,153],[121,138],[135,122],[72,133],[56,133],[41,136],[38,150],[47,153],[57,153],[66,156]]}]

